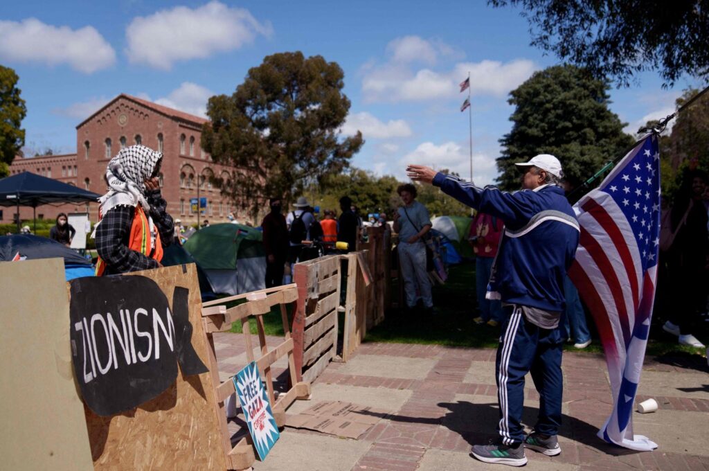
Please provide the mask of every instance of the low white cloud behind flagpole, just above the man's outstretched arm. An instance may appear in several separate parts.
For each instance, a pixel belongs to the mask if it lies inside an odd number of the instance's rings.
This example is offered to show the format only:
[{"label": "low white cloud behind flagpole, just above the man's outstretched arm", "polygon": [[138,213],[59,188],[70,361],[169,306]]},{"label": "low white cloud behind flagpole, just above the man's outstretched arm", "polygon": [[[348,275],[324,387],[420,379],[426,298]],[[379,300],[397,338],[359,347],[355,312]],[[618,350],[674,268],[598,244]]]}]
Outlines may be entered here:
[{"label": "low white cloud behind flagpole, just above the man's outstretched arm", "polygon": [[[408,164],[428,165],[436,170],[447,169],[450,172],[457,172],[465,179],[470,177],[469,150],[452,141],[440,145],[432,142],[421,143],[413,152],[398,161],[398,168],[393,169],[394,174],[406,178]],[[473,154],[473,181],[477,185],[492,184],[497,175],[494,157],[482,153]]]}]

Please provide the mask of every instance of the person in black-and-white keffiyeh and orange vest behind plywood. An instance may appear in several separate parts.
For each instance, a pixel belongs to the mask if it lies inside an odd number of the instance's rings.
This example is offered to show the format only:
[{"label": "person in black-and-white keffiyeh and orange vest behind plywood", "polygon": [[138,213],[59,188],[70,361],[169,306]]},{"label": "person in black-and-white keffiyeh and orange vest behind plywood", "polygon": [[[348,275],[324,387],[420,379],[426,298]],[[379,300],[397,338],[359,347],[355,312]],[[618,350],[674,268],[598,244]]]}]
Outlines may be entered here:
[{"label": "person in black-and-white keffiyeh and orange vest behind plywood", "polygon": [[172,243],[174,223],[160,194],[162,153],[131,145],[108,162],[108,192],[99,198],[94,228],[96,275],[161,267],[162,249]]}]

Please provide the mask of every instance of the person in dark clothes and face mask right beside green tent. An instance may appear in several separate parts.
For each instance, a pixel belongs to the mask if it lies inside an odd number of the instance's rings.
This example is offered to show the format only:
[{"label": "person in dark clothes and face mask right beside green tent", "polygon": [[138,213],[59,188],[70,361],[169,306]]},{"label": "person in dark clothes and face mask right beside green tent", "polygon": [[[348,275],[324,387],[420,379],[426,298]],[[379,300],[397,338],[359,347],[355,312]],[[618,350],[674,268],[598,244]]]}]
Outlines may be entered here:
[{"label": "person in dark clothes and face mask right beside green tent", "polygon": [[266,287],[272,288],[283,284],[289,243],[286,218],[281,214],[283,209],[281,199],[269,199],[269,206],[271,212],[264,217],[261,227],[264,231],[264,251],[266,252]]}]

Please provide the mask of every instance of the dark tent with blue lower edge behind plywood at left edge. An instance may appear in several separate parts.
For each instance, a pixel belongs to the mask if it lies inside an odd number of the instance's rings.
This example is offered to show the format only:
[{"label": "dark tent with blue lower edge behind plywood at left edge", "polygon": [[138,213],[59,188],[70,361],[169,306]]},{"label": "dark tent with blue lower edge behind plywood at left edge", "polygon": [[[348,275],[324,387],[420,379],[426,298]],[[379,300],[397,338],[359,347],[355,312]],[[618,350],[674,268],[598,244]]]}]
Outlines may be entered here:
[{"label": "dark tent with blue lower edge behind plywood at left edge", "polygon": [[26,234],[0,237],[0,261],[9,262],[16,255],[26,257],[28,260],[63,258],[67,282],[69,279],[94,276],[94,268],[91,267],[89,260],[66,245],[46,237]]}]

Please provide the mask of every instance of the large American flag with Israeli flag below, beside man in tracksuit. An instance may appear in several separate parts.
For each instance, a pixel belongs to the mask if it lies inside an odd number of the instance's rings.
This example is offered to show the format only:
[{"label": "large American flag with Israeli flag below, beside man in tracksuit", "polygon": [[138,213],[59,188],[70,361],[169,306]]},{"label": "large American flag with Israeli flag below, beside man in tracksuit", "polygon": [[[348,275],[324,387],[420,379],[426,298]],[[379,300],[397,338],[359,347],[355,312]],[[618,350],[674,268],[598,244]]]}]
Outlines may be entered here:
[{"label": "large American flag with Israeli flag below, beside man in tracksuit", "polygon": [[569,270],[601,336],[613,413],[598,436],[633,450],[657,448],[634,435],[632,410],[652,318],[660,226],[657,135],[642,139],[574,205],[581,226]]}]

